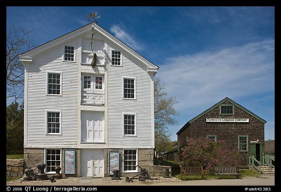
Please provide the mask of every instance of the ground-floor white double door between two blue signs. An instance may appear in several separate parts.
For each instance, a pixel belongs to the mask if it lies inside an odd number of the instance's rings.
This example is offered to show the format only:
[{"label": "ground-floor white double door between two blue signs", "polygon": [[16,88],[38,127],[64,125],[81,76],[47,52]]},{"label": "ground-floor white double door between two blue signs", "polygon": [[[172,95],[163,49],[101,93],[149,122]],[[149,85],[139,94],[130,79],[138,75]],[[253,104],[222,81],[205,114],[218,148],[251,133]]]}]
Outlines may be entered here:
[{"label": "ground-floor white double door between two blue signs", "polygon": [[103,149],[81,149],[81,176],[104,176]]}]

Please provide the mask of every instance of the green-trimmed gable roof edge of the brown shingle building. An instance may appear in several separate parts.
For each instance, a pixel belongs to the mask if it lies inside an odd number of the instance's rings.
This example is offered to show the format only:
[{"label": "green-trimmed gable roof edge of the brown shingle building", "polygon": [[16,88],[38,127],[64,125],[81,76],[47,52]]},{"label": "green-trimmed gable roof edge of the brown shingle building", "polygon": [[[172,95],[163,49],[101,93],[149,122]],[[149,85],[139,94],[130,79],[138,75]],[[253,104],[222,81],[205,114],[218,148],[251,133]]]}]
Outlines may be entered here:
[{"label": "green-trimmed gable roof edge of the brown shingle building", "polygon": [[206,113],[208,113],[209,111],[213,110],[214,108],[220,106],[221,104],[223,104],[224,102],[230,102],[233,105],[235,105],[236,107],[241,108],[243,111],[245,111],[246,113],[252,115],[253,117],[255,117],[256,119],[260,120],[262,123],[266,123],[266,121],[264,119],[262,119],[261,117],[259,117],[258,115],[254,114],[253,112],[249,111],[248,109],[246,109],[245,107],[242,107],[241,105],[239,105],[238,103],[232,101],[231,99],[229,99],[228,97],[225,97],[223,100],[221,100],[219,103],[215,104],[214,106],[208,108],[207,110],[205,110],[204,112],[200,113],[199,115],[197,115],[196,117],[194,117],[193,119],[189,120],[176,134],[180,133],[184,128],[186,128],[189,124],[191,124],[192,122],[194,122],[195,120],[199,119],[201,116],[205,115]]}]

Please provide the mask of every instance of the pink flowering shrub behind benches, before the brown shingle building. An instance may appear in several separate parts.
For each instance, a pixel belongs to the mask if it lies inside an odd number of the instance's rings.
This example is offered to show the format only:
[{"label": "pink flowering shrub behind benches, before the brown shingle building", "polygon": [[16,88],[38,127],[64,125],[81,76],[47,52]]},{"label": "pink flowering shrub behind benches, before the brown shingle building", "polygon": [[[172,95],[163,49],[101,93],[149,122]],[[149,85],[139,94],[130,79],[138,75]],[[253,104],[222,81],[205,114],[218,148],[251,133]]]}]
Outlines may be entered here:
[{"label": "pink flowering shrub behind benches, before the brown shingle building", "polygon": [[210,138],[190,138],[181,153],[185,166],[203,166],[213,172],[216,166],[238,167],[238,148],[228,149],[225,141]]}]

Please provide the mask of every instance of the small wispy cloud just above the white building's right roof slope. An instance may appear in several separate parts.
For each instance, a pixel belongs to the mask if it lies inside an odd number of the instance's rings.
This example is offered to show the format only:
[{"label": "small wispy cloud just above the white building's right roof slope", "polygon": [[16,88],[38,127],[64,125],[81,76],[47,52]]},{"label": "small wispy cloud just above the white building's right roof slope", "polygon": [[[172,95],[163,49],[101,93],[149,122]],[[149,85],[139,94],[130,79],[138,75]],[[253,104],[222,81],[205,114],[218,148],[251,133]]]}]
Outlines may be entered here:
[{"label": "small wispy cloud just above the white building's right roof slope", "polygon": [[140,45],[140,43],[137,43],[133,36],[130,35],[125,31],[125,29],[122,29],[118,25],[112,25],[110,27],[110,31],[114,33],[114,36],[117,37],[121,42],[125,43],[129,47],[131,47],[134,50],[142,50],[143,47]]}]

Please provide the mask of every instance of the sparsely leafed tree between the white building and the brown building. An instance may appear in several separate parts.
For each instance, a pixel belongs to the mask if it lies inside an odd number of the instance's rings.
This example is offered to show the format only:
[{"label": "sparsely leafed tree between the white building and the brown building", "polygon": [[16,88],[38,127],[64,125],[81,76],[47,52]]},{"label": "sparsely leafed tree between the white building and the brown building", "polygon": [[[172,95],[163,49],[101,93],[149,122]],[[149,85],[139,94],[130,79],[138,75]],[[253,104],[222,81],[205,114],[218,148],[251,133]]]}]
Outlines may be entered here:
[{"label": "sparsely leafed tree between the white building and the brown building", "polygon": [[159,152],[167,151],[167,143],[171,142],[169,125],[177,125],[175,116],[179,113],[174,105],[178,103],[175,97],[168,97],[164,91],[165,86],[160,84],[159,78],[154,81],[154,131],[155,131],[155,157]]}]

